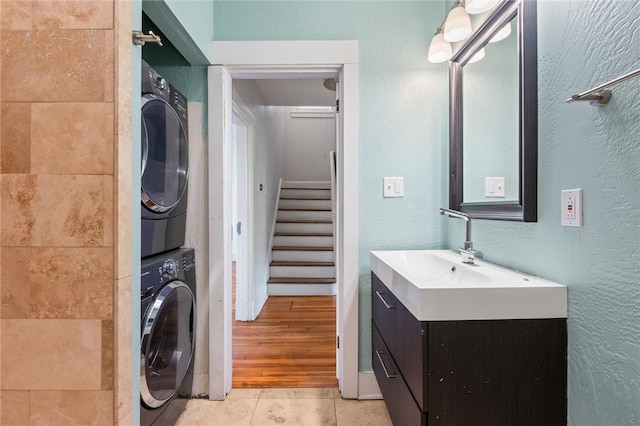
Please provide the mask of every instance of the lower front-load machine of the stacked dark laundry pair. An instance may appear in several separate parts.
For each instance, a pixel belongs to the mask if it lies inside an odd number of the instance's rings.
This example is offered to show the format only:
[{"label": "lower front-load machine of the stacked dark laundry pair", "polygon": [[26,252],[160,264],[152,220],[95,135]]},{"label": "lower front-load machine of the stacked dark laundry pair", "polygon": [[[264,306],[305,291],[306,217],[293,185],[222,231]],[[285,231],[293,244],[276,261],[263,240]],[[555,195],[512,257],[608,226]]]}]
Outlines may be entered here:
[{"label": "lower front-load machine of the stacked dark laundry pair", "polygon": [[194,250],[142,259],[141,266],[140,424],[173,425],[193,385]]}]

